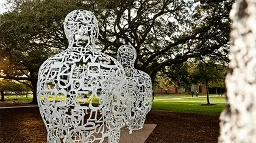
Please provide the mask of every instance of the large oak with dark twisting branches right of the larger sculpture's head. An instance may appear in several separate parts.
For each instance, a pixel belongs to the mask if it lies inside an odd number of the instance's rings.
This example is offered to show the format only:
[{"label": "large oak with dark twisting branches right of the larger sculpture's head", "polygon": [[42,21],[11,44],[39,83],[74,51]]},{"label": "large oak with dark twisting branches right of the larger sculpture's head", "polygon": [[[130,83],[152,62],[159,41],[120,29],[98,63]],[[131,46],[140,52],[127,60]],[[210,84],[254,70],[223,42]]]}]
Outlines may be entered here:
[{"label": "large oak with dark twisting branches right of the larger sculpture's head", "polygon": [[109,2],[110,8],[99,15],[102,23],[99,39],[109,55],[115,55],[124,42],[132,44],[138,57],[135,67],[149,73],[152,79],[166,66],[183,63],[189,58],[210,56],[228,61],[232,3]]}]

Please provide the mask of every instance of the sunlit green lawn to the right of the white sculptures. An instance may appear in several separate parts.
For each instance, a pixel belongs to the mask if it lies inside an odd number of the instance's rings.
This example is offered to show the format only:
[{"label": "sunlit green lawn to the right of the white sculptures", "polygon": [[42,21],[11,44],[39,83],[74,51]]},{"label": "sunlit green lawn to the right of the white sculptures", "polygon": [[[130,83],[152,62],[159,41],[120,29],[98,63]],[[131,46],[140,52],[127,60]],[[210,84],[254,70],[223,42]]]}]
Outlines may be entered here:
[{"label": "sunlit green lawn to the right of the white sculptures", "polygon": [[[202,104],[207,104],[207,98],[204,96],[206,95],[198,95],[198,97],[194,95],[192,98],[191,95],[156,95],[152,110],[219,116],[225,107],[225,103],[213,103],[215,105],[203,106]],[[222,96],[210,95],[209,99],[210,103],[226,102],[226,97]]]}]

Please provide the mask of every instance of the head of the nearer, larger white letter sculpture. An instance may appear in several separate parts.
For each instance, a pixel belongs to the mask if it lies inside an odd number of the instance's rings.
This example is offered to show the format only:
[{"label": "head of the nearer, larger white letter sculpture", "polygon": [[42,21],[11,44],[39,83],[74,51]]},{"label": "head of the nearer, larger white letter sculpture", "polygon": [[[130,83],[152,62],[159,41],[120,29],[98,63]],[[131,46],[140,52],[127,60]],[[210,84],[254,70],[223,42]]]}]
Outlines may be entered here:
[{"label": "head of the nearer, larger white letter sculpture", "polygon": [[64,31],[69,45],[95,44],[99,35],[99,26],[96,16],[87,10],[74,10],[68,13],[64,22]]}]

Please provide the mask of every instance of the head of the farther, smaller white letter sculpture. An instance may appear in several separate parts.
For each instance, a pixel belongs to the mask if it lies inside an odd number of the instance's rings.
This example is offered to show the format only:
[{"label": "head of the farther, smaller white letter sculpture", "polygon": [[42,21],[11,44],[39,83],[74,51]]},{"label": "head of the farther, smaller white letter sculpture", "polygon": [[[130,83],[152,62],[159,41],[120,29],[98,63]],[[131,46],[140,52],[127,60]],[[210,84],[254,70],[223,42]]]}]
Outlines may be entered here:
[{"label": "head of the farther, smaller white letter sculpture", "polygon": [[121,45],[121,47],[118,48],[117,59],[124,68],[134,67],[136,58],[137,52],[132,45]]}]

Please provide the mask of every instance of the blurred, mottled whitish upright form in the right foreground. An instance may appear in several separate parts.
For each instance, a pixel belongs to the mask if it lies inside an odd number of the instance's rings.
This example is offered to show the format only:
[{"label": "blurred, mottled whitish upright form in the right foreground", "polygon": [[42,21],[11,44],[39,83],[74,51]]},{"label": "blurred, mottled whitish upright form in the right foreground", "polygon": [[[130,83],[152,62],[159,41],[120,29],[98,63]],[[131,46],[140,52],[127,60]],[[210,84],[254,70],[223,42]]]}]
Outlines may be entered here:
[{"label": "blurred, mottled whitish upright form in the right foreground", "polygon": [[256,1],[238,0],[230,12],[227,104],[220,116],[219,143],[256,141]]}]

